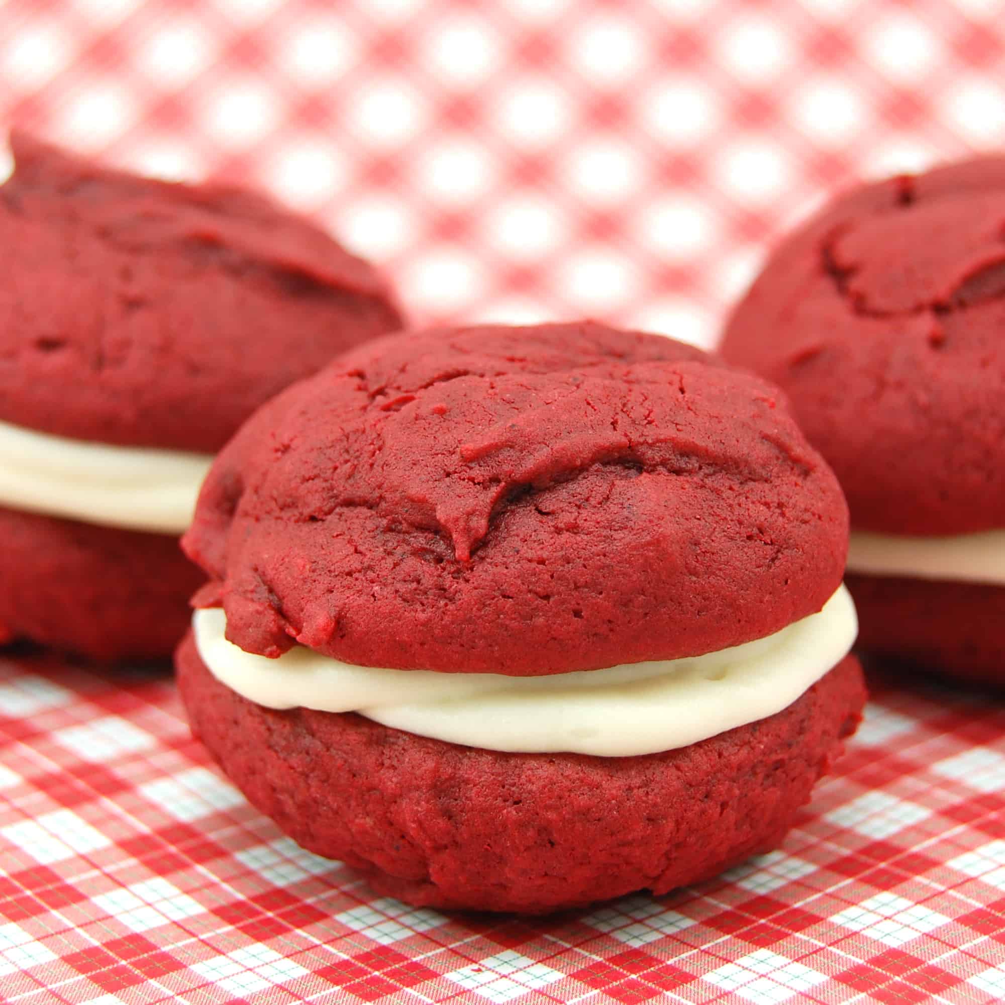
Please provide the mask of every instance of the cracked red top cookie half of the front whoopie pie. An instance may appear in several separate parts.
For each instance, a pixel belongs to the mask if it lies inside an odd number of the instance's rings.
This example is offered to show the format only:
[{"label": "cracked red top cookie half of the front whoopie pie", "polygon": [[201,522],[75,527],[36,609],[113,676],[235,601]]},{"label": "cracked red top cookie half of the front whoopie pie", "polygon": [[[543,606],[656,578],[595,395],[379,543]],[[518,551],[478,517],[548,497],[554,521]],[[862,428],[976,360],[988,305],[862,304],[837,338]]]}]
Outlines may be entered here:
[{"label": "cracked red top cookie half of the front whoopie pie", "polygon": [[248,651],[534,675],[777,631],[847,535],[775,388],[585,323],[348,354],[227,445],[183,546]]}]

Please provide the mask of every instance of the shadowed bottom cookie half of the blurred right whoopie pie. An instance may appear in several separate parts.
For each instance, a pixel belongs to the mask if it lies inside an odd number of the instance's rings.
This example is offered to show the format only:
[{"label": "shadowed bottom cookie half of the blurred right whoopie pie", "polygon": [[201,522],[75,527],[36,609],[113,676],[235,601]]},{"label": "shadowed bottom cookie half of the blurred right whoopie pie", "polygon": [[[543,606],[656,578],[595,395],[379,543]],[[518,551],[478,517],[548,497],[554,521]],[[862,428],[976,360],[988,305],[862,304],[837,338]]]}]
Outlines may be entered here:
[{"label": "shadowed bottom cookie half of the blurred right whoopie pie", "polygon": [[858,647],[1005,686],[1005,587],[848,573]]}]

